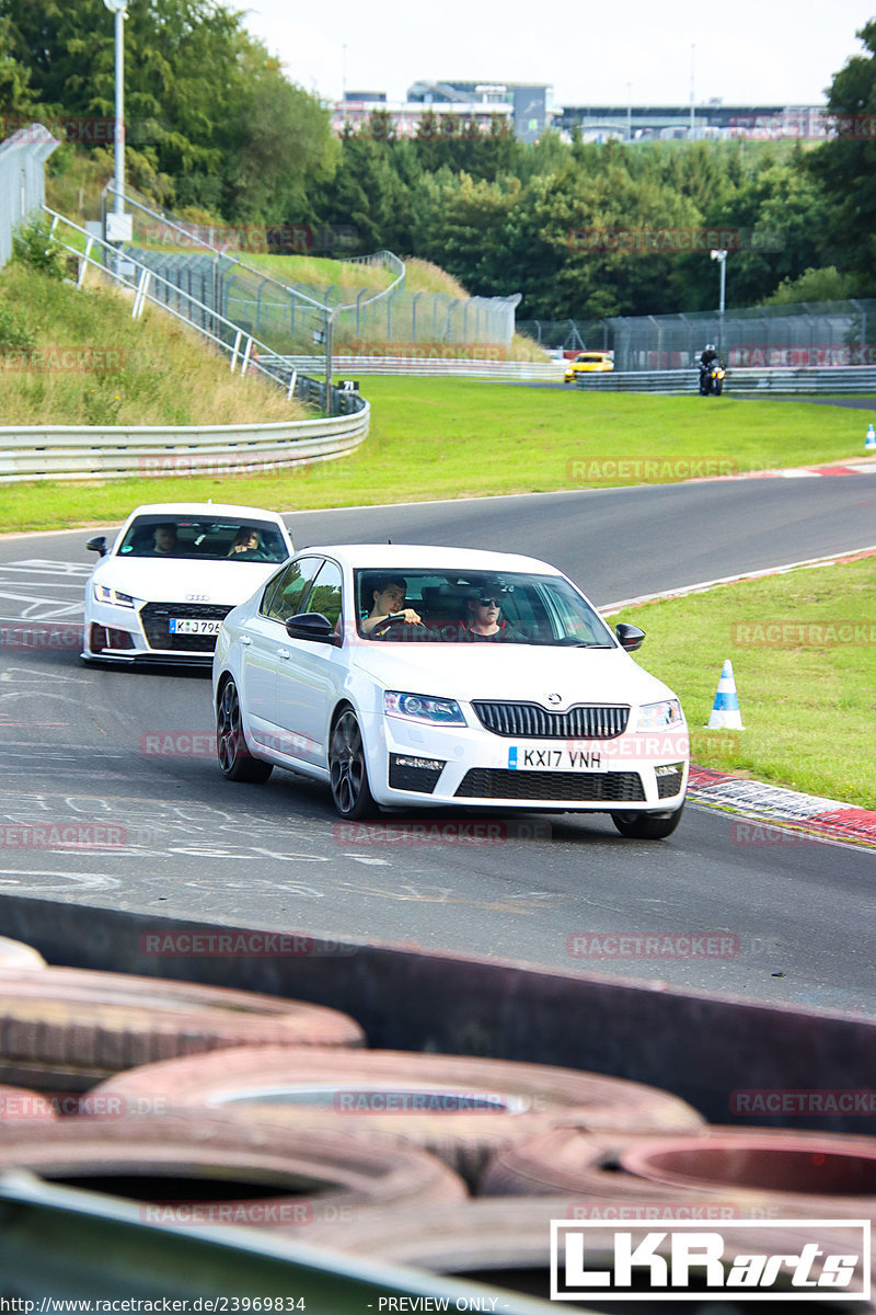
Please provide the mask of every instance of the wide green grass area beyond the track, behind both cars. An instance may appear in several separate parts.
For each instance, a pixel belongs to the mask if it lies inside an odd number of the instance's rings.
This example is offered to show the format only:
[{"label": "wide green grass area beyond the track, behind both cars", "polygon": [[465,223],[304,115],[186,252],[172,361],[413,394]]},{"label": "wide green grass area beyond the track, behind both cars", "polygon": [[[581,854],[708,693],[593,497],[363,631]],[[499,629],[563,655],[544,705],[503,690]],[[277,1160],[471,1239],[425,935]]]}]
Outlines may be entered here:
[{"label": "wide green grass area beyond the track, behind both cars", "polygon": [[[373,408],[372,433],[341,462],[253,477],[11,485],[5,527],[121,519],[156,497],[223,497],[276,510],[355,506],[676,483],[864,451],[860,412],[839,406],[582,394],[465,379],[362,377],[361,388]],[[190,397],[186,389],[186,405]],[[5,406],[14,406],[12,396]],[[263,418],[255,406],[251,418]]]}]

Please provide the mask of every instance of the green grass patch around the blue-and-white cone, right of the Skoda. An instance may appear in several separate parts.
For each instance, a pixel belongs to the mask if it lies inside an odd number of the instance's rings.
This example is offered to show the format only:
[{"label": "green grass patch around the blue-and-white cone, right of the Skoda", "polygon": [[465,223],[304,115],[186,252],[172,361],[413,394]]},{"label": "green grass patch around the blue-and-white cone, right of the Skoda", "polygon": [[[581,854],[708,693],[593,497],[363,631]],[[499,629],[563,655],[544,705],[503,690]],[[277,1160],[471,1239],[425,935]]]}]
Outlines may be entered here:
[{"label": "green grass patch around the blue-and-white cone, right of the Skoda", "polygon": [[[876,558],[649,602],[623,619],[645,630],[642,665],[682,700],[692,761],[876,809]],[[745,730],[708,731],[728,658]]]}]

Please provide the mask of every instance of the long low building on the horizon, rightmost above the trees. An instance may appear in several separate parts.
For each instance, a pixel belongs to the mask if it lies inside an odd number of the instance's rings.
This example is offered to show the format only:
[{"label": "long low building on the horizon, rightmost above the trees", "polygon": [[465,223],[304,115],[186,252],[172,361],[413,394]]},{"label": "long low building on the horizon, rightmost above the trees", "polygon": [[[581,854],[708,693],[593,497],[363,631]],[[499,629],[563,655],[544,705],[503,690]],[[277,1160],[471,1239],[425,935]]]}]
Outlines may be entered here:
[{"label": "long low building on the horizon, rightmost above the trees", "polygon": [[[691,122],[692,118],[692,122]],[[565,105],[554,128],[571,133],[578,125],[586,141],[800,138],[830,135],[823,105]]]}]

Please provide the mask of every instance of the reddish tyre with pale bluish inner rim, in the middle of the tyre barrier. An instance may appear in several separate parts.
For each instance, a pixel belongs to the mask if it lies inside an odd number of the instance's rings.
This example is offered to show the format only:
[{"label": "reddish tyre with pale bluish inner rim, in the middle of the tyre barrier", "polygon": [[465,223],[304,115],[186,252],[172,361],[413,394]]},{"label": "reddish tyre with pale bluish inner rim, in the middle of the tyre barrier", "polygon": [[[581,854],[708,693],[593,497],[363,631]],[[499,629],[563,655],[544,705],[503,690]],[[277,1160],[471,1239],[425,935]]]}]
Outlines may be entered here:
[{"label": "reddish tyre with pale bluish inner rim, in the middle of the tyre barrier", "polygon": [[148,1109],[222,1109],[253,1124],[356,1130],[440,1156],[475,1184],[508,1141],[557,1123],[623,1132],[703,1127],[684,1101],[638,1082],[510,1060],[407,1051],[251,1047],[120,1073],[91,1097]]}]

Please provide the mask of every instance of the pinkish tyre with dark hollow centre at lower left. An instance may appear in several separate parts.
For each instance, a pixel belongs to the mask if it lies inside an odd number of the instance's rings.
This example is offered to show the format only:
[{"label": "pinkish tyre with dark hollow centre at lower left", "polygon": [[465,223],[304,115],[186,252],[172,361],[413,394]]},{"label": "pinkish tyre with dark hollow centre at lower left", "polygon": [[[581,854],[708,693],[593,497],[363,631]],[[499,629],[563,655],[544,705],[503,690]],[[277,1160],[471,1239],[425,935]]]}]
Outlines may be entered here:
[{"label": "pinkish tyre with dark hollow centre at lower left", "polygon": [[154,1224],[302,1226],[355,1207],[462,1201],[462,1181],[412,1147],[183,1111],[0,1122],[0,1172],[135,1201]]}]

